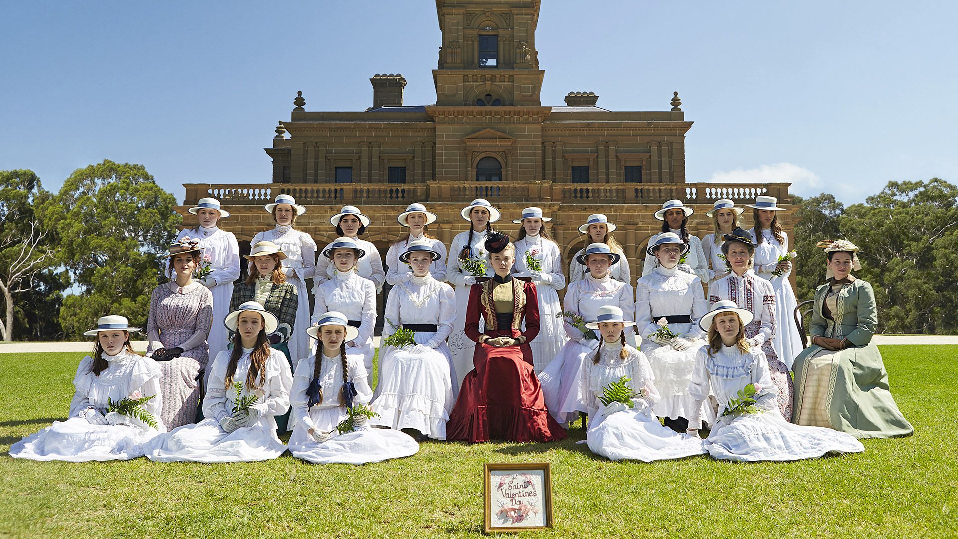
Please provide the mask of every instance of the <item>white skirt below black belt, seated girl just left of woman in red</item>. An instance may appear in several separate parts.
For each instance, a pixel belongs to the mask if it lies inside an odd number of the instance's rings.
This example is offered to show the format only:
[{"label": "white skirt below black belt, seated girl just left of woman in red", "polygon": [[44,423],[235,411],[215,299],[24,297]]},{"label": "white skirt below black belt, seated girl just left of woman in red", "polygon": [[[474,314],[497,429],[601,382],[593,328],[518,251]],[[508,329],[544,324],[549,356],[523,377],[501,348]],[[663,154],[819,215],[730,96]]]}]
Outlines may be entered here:
[{"label": "white skirt below black belt, seated girl just left of woman in red", "polygon": [[379,414],[371,425],[416,429],[445,440],[445,422],[455,399],[449,378],[449,359],[422,344],[388,346],[379,360],[379,383],[371,408]]}]

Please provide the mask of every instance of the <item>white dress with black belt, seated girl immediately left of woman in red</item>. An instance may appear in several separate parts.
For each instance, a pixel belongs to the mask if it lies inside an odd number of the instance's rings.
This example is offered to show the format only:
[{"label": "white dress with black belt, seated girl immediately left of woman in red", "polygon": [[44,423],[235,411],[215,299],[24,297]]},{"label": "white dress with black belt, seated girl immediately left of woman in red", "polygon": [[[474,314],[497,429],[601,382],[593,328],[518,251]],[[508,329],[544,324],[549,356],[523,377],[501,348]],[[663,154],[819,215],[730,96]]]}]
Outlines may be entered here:
[{"label": "white dress with black belt, seated girl immediately left of woman in red", "polygon": [[370,424],[392,429],[416,429],[430,438],[445,439],[445,422],[455,403],[456,373],[445,338],[455,323],[452,288],[432,278],[412,277],[397,285],[386,300],[382,340],[402,324],[432,324],[435,332],[417,331],[415,346],[379,348],[379,376]]}]

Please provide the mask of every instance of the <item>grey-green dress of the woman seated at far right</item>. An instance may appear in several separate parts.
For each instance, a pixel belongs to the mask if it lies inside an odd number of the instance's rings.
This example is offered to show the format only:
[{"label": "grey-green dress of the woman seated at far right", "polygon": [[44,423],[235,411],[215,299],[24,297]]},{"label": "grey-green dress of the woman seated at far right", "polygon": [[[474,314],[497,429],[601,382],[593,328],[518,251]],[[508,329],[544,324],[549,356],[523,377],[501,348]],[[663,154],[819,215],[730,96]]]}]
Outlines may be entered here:
[{"label": "grey-green dress of the woman seated at far right", "polygon": [[810,334],[846,339],[854,346],[833,352],[811,345],[799,354],[793,365],[792,421],[858,438],[911,434],[911,425],[888,390],[888,372],[878,346],[872,343],[878,323],[872,285],[855,277],[849,280],[835,284],[830,279],[815,291]]}]

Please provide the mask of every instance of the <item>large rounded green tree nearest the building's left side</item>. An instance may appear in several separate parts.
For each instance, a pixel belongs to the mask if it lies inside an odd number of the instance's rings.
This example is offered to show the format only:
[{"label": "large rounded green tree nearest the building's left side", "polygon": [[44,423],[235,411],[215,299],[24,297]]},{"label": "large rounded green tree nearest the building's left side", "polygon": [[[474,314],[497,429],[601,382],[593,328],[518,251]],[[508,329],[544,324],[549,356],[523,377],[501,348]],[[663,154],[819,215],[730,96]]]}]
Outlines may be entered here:
[{"label": "large rounded green tree nearest the building's left side", "polygon": [[146,327],[149,295],[162,274],[161,255],[181,221],[175,204],[143,165],[104,160],[63,182],[48,212],[78,290],[60,309],[67,336],[79,337],[108,314]]}]

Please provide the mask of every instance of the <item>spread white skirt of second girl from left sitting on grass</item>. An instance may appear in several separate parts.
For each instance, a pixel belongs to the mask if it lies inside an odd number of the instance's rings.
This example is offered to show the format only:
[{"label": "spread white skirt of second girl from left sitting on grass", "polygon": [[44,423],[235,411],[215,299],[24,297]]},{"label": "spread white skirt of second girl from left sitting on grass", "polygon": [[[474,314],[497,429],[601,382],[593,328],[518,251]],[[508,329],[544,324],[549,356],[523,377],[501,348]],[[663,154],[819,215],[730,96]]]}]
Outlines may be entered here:
[{"label": "spread white skirt of second girl from left sitting on grass", "polygon": [[252,427],[227,433],[210,417],[156,436],[150,442],[147,457],[158,462],[249,462],[270,460],[283,455],[285,450],[273,421],[261,418]]}]

